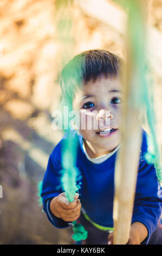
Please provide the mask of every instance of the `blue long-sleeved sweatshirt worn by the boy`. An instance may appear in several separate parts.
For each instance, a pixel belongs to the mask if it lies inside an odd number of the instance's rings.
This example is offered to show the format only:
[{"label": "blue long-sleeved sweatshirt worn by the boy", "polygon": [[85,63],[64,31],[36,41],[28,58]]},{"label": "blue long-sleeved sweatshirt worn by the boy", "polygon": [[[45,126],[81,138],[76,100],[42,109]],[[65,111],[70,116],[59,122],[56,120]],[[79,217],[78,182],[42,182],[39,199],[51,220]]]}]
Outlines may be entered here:
[{"label": "blue long-sleeved sweatshirt worn by the boy", "polygon": [[[50,200],[62,193],[60,186],[61,150],[68,132],[77,137],[76,167],[81,172],[79,190],[82,208],[89,218],[103,227],[113,228],[114,167],[118,150],[106,161],[96,164],[90,162],[82,148],[82,136],[75,130],[67,131],[49,156],[48,166],[43,178],[43,209],[48,220],[57,228],[69,227],[68,222],[55,217],[49,208]],[[133,222],[141,222],[148,230],[148,236],[142,243],[147,243],[157,228],[161,215],[162,189],[157,180],[153,164],[148,164],[144,154],[147,151],[146,132],[142,129],[142,144],[139,158],[139,170],[135,191]]]}]

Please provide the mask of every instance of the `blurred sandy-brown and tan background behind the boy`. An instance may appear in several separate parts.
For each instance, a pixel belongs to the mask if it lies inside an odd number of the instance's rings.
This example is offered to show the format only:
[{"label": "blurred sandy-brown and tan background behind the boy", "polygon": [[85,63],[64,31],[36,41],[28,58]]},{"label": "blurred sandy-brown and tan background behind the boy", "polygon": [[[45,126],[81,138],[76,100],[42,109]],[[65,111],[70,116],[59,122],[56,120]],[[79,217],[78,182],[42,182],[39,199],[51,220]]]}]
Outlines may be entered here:
[{"label": "blurred sandy-brown and tan background behind the boy", "polygon": [[[0,1],[0,244],[73,244],[38,202],[38,181],[62,137],[51,127],[60,108],[61,67],[104,48],[124,57],[126,12],[107,0]],[[162,146],[162,0],[149,2],[148,46],[157,138]]]}]

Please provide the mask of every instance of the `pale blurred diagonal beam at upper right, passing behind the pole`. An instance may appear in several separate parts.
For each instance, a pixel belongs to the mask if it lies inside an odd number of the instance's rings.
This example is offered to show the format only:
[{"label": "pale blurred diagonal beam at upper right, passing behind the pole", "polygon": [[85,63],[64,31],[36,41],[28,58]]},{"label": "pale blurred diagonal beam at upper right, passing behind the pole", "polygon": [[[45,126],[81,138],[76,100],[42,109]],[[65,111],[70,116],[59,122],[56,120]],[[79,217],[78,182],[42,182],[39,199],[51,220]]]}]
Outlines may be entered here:
[{"label": "pale blurred diagonal beam at upper right, passing behind the pole", "polygon": [[[150,0],[146,0],[150,1]],[[126,35],[126,21],[127,15],[124,10],[113,1],[106,0],[75,0],[75,3],[89,16],[105,23],[112,27],[116,32],[122,36]],[[149,2],[151,4],[151,2]],[[149,5],[150,8],[150,5]],[[148,44],[146,45],[148,51],[148,60],[150,60],[151,68],[155,73],[162,77],[162,33],[158,29],[148,25]],[[120,42],[118,43],[120,45]],[[161,48],[160,48],[161,47]]]}]

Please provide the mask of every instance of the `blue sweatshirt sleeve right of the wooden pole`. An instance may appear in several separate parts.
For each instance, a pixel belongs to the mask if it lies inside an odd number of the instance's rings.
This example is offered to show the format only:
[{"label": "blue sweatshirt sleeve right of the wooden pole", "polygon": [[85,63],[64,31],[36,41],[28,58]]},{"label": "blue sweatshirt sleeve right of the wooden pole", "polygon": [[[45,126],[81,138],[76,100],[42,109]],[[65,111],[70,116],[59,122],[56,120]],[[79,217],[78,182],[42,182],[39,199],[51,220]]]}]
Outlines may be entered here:
[{"label": "blue sweatshirt sleeve right of the wooden pole", "polygon": [[157,180],[153,164],[142,159],[139,165],[137,187],[135,192],[133,222],[141,222],[148,230],[148,235],[141,244],[147,244],[157,228],[162,206],[162,189]]}]

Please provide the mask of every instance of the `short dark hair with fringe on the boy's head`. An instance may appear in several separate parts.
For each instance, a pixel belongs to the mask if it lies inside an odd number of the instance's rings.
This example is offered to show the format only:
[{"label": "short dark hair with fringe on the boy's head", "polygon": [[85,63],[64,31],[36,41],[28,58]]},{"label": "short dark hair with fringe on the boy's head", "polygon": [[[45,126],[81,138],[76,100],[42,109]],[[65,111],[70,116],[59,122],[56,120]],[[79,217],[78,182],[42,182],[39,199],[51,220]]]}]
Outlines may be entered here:
[{"label": "short dark hair with fringe on the boy's head", "polygon": [[73,100],[76,89],[101,76],[118,77],[122,59],[106,50],[89,50],[76,55],[62,69],[63,99]]}]

